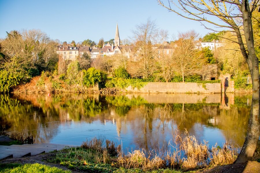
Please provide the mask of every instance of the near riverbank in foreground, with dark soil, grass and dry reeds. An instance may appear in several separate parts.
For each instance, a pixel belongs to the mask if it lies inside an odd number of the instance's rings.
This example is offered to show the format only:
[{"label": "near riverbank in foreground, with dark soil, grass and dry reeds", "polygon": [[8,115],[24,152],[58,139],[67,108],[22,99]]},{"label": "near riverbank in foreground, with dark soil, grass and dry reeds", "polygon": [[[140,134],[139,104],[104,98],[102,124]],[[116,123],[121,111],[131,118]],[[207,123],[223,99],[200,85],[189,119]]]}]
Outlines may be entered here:
[{"label": "near riverbank in foreground, with dark soil, grass and dry reeds", "polygon": [[[104,138],[103,138],[104,139]],[[185,139],[184,139],[185,140]],[[235,164],[227,164],[227,158],[230,152],[232,152],[229,148],[218,148],[218,153],[222,153],[225,151],[225,156],[218,156],[221,158],[221,163],[217,163],[218,166],[214,166],[211,162],[209,165],[200,165],[194,168],[192,164],[185,165],[185,161],[192,163],[197,159],[201,158],[193,158],[193,154],[196,154],[197,157],[200,157],[200,153],[196,149],[196,142],[194,140],[192,142],[189,153],[187,154],[187,158],[183,158],[184,162],[182,166],[176,164],[171,156],[168,155],[168,166],[164,165],[163,157],[159,155],[151,156],[151,151],[149,151],[148,155],[144,154],[144,150],[135,150],[127,155],[123,155],[120,153],[120,146],[114,146],[113,142],[106,140],[106,147],[101,147],[102,139],[92,139],[90,141],[83,142],[81,147],[79,148],[67,148],[62,151],[54,151],[52,153],[43,153],[35,156],[27,156],[21,158],[7,158],[0,161],[0,172],[8,172],[7,170],[3,170],[2,168],[11,167],[10,170],[17,169],[17,167],[23,167],[24,164],[28,164],[30,167],[39,167],[39,165],[35,165],[35,163],[39,163],[41,165],[46,165],[50,167],[55,167],[66,170],[73,173],[78,172],[144,172],[144,173],[183,173],[183,172],[193,172],[193,173],[213,173],[213,172],[225,172],[225,173],[258,173],[260,171],[260,163],[257,161],[249,161],[247,163],[235,163]],[[195,145],[194,145],[195,144]],[[200,145],[201,146],[201,145]],[[198,148],[197,148],[198,149]],[[196,153],[195,153],[196,152]],[[256,151],[259,153],[259,151]],[[150,155],[149,155],[150,153]],[[150,158],[151,157],[151,158]],[[189,159],[190,158],[190,159]],[[167,159],[167,157],[164,159]],[[180,158],[179,158],[180,159]],[[217,158],[212,158],[211,161]],[[254,158],[256,159],[256,158]],[[179,160],[179,161],[181,161]],[[218,160],[218,159],[217,159]],[[235,157],[232,160],[234,161]],[[198,160],[197,160],[198,161]],[[201,161],[201,160],[200,160]],[[225,163],[226,162],[226,163]],[[216,164],[216,163],[215,163]],[[188,166],[188,167],[187,167]],[[22,169],[22,168],[21,168]],[[20,170],[21,170],[20,169]],[[10,171],[11,172],[11,171]],[[39,171],[40,172],[40,171]]]}]

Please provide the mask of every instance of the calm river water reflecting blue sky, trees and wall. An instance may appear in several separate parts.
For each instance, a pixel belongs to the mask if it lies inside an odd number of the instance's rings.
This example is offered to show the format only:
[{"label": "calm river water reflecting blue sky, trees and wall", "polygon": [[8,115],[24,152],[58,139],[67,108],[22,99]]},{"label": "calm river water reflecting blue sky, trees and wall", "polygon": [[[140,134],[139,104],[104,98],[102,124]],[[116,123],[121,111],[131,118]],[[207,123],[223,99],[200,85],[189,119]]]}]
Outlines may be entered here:
[{"label": "calm river water reflecting blue sky, trees and wall", "polygon": [[80,145],[104,136],[123,148],[167,148],[187,129],[199,141],[242,147],[251,96],[126,94],[1,95],[0,130],[33,134],[36,142]]}]

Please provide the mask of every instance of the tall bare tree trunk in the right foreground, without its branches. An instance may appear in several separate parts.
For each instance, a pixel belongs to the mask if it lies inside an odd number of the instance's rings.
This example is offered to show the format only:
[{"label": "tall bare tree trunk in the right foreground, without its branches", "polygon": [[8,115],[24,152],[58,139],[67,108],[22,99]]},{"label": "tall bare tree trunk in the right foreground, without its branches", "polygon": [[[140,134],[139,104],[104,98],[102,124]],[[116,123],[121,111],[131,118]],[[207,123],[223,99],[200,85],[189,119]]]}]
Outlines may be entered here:
[{"label": "tall bare tree trunk in the right foreground, without its branches", "polygon": [[[254,39],[253,39],[253,30],[251,22],[251,13],[250,7],[247,0],[244,0],[242,3],[242,12],[243,12],[243,25],[244,25],[244,34],[246,38],[247,45],[247,57],[245,57],[251,78],[252,78],[252,106],[250,112],[250,119],[248,123],[248,130],[246,133],[246,140],[242,147],[241,152],[239,153],[235,163],[244,163],[246,161],[252,160],[255,149],[257,147],[257,142],[260,135],[260,120],[259,120],[259,62],[255,54],[254,48]],[[241,48],[241,46],[240,46]],[[242,50],[242,54],[245,53],[245,50]],[[244,55],[244,54],[243,54]]]}]

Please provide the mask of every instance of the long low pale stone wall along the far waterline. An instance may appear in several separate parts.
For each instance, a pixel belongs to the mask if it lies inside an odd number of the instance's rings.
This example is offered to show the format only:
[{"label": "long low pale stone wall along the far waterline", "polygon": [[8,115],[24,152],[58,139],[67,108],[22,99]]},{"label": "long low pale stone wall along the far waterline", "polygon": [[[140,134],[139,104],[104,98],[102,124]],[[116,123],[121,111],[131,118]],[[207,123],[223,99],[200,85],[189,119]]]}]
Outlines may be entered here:
[{"label": "long low pale stone wall along the far waterline", "polygon": [[[205,86],[205,87],[203,87]],[[148,82],[138,90],[128,86],[126,91],[133,93],[221,93],[220,83],[186,83],[186,82]]]}]

